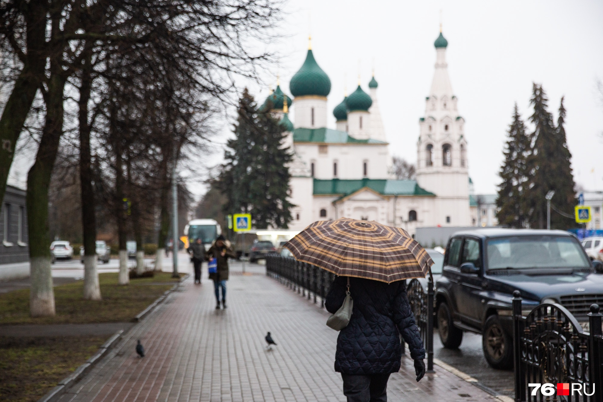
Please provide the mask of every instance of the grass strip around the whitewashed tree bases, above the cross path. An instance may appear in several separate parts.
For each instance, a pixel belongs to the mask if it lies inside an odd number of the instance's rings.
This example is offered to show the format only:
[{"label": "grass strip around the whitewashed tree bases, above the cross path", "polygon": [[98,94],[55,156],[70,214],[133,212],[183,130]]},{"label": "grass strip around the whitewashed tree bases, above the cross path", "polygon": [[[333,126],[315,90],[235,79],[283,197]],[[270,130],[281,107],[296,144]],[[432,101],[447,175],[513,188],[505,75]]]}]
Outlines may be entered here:
[{"label": "grass strip around the whitewashed tree bases, above the cross path", "polygon": [[[153,278],[130,279],[118,285],[118,273],[101,273],[102,301],[82,298],[83,281],[54,287],[57,314],[54,317],[30,317],[29,289],[0,295],[2,324],[89,324],[130,321],[177,282],[170,272],[155,273]],[[183,274],[181,274],[183,275]]]}]

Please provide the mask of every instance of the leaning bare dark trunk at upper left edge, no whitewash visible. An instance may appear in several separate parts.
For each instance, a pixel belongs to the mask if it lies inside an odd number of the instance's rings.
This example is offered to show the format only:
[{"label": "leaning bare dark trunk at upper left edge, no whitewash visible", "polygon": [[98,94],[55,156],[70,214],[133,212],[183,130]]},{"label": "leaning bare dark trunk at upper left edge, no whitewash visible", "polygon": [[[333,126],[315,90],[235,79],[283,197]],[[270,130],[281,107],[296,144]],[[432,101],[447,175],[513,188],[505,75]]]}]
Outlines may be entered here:
[{"label": "leaning bare dark trunk at upper left edge, no whitewash visible", "polygon": [[27,55],[0,118],[0,200],[4,199],[15,145],[44,78],[46,7],[39,0],[31,1],[27,7],[31,10],[25,17]]}]

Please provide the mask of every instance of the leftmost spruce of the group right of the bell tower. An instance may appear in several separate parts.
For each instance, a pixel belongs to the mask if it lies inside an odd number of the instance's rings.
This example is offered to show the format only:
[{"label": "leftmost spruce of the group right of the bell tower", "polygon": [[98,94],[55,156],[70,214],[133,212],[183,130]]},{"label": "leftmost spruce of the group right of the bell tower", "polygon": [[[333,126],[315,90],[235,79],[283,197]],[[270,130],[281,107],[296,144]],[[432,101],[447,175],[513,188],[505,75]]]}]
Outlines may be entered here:
[{"label": "leftmost spruce of the group right of the bell tower", "polygon": [[505,146],[505,161],[500,167],[500,178],[496,205],[496,217],[500,225],[523,228],[527,222],[526,182],[528,181],[528,156],[531,150],[529,137],[517,103],[513,109],[513,122],[509,126]]}]

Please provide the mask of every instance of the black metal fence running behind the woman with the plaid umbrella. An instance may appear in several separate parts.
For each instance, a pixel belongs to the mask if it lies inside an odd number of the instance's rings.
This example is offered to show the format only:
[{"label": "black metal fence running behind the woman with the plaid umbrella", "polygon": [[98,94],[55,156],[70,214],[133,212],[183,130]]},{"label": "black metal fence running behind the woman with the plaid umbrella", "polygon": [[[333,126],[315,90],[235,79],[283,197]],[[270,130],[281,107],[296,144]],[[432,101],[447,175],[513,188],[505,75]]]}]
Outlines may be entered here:
[{"label": "black metal fence running behind the woman with the plaid umbrella", "polygon": [[[329,286],[335,279],[335,275],[320,267],[301,263],[291,257],[281,257],[280,255],[268,255],[266,258],[266,275],[277,279],[280,283],[299,293],[308,300],[314,298],[317,303],[320,299],[320,307],[324,307],[324,298],[329,292]],[[431,290],[429,290],[431,289]],[[421,313],[417,318],[417,325],[421,331],[421,337],[425,343],[427,351],[429,372],[434,371],[434,284],[428,282],[428,292],[422,292],[420,295],[412,296],[409,293],[411,308],[417,308],[415,301],[421,300]],[[415,304],[413,304],[415,302]],[[431,306],[431,307],[429,307]],[[415,313],[415,318],[417,314]]]}]

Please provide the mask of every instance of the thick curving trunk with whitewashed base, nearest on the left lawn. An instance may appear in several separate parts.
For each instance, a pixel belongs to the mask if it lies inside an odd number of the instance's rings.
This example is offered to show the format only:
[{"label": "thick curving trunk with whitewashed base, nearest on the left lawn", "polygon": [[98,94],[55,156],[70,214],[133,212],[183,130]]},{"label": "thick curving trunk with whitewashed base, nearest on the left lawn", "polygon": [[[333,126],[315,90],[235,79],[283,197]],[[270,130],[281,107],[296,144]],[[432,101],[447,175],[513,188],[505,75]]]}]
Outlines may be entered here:
[{"label": "thick curving trunk with whitewashed base, nearest on the left lawn", "polygon": [[[51,62],[52,63],[52,62]],[[52,69],[52,66],[51,66]],[[46,121],[36,155],[27,176],[27,224],[30,238],[30,314],[54,316],[54,290],[48,230],[48,188],[63,133],[63,88],[66,77],[51,72],[46,95]]]}]

